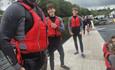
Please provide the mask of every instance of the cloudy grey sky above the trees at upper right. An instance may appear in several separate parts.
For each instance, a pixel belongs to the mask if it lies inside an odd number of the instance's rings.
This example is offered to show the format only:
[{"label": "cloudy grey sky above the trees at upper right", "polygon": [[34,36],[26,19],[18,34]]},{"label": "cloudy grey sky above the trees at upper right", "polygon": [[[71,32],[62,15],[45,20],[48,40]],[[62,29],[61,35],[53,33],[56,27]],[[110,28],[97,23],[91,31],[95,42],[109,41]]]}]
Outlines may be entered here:
[{"label": "cloudy grey sky above the trees at upper right", "polygon": [[67,0],[89,9],[115,8],[115,0]]}]

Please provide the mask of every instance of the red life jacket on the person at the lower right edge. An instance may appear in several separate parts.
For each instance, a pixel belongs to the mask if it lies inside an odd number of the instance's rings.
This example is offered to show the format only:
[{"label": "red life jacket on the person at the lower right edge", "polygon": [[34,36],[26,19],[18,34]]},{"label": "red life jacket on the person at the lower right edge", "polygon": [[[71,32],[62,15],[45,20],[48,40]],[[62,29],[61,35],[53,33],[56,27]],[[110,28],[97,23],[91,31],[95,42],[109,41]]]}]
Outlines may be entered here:
[{"label": "red life jacket on the person at the lower right edge", "polygon": [[108,43],[105,43],[104,46],[103,46],[103,52],[104,52],[104,59],[105,59],[105,65],[106,65],[106,68],[111,68],[111,64],[108,60],[108,57],[109,55],[111,54],[109,51],[108,51]]}]

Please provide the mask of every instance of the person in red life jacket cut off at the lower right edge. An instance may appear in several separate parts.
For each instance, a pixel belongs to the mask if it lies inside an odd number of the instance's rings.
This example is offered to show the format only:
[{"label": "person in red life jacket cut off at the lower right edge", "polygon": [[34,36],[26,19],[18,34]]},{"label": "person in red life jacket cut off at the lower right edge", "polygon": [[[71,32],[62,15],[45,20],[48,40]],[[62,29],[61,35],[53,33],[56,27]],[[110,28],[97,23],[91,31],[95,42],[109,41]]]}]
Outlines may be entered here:
[{"label": "person in red life jacket cut off at the lower right edge", "polygon": [[115,36],[103,46],[106,70],[115,70]]}]

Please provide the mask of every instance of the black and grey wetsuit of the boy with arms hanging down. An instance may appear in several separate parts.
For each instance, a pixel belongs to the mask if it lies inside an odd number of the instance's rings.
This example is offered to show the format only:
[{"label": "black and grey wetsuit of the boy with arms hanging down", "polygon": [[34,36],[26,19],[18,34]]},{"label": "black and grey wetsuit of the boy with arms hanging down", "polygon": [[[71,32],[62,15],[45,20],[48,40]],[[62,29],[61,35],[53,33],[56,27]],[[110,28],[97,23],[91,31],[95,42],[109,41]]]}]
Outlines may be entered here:
[{"label": "black and grey wetsuit of the boy with arms hanging down", "polygon": [[80,49],[81,49],[81,52],[83,53],[84,49],[83,49],[82,35],[80,34],[80,32],[83,29],[83,21],[79,16],[73,16],[73,17],[74,17],[74,19],[76,19],[77,17],[79,18],[80,26],[79,27],[71,27],[72,17],[70,17],[69,22],[68,22],[68,29],[69,29],[70,33],[73,33],[73,40],[74,40],[76,51],[78,52],[78,44],[77,44],[77,37],[78,37],[79,43],[80,43]]}]

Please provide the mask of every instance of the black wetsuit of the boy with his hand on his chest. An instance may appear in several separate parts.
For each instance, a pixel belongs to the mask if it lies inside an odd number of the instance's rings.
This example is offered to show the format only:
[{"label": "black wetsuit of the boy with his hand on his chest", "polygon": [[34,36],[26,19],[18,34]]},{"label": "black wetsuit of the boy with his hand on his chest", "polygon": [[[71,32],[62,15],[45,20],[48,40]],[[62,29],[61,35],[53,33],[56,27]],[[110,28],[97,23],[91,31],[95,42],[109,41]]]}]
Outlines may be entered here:
[{"label": "black wetsuit of the boy with his hand on his chest", "polygon": [[[56,21],[56,17],[50,17],[50,20],[55,23]],[[64,25],[63,25],[63,21],[60,18],[61,21],[61,25],[60,25],[60,32],[64,31]],[[61,36],[49,36],[48,37],[49,40],[49,46],[48,46],[48,52],[49,52],[49,56],[50,56],[50,67],[51,70],[54,70],[54,52],[57,50],[60,54],[60,61],[61,61],[61,65],[64,65],[64,50],[61,44]]]}]

